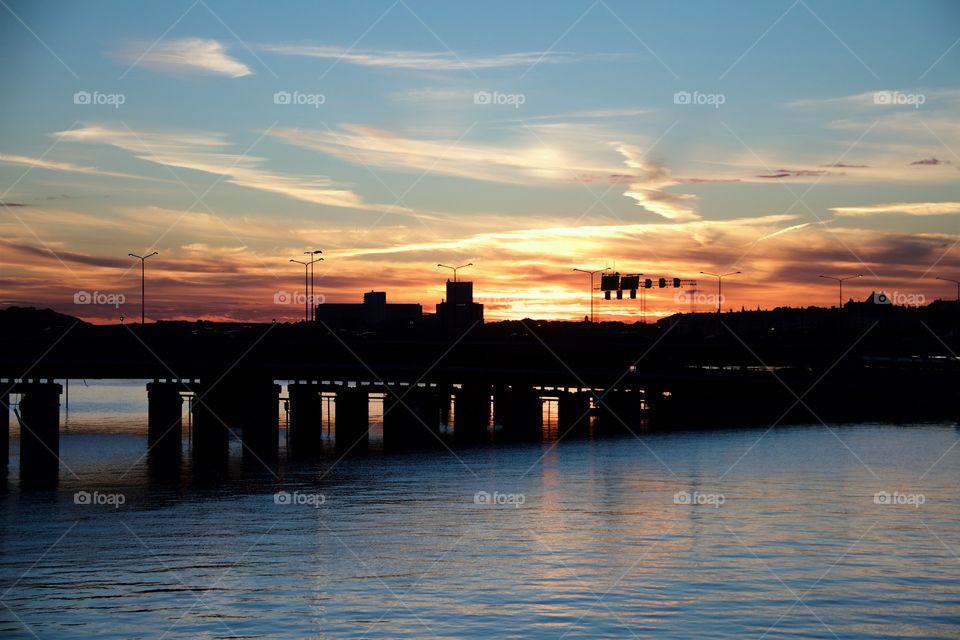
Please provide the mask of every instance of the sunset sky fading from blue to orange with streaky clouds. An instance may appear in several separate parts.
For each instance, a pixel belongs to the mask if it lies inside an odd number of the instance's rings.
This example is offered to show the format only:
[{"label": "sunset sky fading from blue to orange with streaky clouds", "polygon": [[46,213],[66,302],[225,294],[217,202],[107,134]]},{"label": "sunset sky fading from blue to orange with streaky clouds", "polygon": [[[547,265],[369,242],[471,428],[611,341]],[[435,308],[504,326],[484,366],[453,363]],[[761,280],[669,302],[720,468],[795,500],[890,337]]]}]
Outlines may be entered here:
[{"label": "sunset sky fading from blue to orange with streaky clouds", "polygon": [[[960,3],[0,0],[0,306],[647,319],[960,279]],[[695,284],[694,284],[695,282]],[[602,320],[641,318],[601,300]]]}]

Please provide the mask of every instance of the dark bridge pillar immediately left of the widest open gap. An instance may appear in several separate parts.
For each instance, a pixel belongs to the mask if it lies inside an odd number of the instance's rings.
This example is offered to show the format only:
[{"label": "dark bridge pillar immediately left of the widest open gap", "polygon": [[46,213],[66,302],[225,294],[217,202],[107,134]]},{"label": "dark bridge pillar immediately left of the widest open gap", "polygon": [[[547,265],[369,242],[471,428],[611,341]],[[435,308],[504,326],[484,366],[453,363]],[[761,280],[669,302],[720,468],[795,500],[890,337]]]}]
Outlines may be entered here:
[{"label": "dark bridge pillar immediately left of the widest open gap", "polygon": [[20,398],[20,477],[31,485],[56,485],[60,474],[60,393],[52,382],[17,385]]}]

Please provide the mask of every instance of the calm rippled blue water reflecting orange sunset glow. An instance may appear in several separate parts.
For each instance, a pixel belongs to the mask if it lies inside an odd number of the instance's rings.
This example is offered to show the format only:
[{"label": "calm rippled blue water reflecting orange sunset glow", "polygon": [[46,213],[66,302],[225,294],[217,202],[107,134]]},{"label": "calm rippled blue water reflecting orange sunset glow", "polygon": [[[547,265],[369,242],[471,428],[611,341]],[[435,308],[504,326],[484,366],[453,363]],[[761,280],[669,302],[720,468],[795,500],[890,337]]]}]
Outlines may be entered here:
[{"label": "calm rippled blue water reflecting orange sunset glow", "polygon": [[[189,456],[172,478],[151,474],[145,411],[141,382],[71,383],[55,493],[20,492],[12,444],[3,637],[960,636],[952,425],[274,470],[235,448],[215,479]],[[75,504],[77,491],[123,504]]]}]

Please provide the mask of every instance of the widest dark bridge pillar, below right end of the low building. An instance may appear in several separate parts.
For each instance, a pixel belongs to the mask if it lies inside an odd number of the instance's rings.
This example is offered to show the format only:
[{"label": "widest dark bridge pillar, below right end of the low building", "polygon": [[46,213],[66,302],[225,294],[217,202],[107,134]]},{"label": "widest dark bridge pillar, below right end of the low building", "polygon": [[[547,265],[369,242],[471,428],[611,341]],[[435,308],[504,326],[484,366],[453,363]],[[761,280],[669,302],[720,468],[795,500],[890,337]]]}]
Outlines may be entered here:
[{"label": "widest dark bridge pillar, below right end of the low building", "polygon": [[386,446],[434,445],[440,438],[440,403],[430,387],[392,387],[383,401]]}]

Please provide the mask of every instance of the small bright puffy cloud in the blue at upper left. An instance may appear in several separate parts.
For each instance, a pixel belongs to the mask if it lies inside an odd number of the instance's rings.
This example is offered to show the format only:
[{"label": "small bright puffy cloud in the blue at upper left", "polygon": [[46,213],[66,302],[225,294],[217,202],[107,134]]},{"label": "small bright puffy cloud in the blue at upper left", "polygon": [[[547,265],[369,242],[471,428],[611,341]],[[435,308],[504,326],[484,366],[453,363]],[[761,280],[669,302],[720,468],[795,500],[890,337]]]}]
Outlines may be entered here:
[{"label": "small bright puffy cloud in the blue at upper left", "polygon": [[114,54],[131,67],[165,73],[196,73],[241,78],[253,74],[247,65],[227,55],[217,40],[180,38],[160,43],[133,42]]}]

